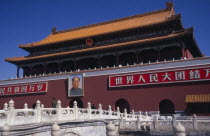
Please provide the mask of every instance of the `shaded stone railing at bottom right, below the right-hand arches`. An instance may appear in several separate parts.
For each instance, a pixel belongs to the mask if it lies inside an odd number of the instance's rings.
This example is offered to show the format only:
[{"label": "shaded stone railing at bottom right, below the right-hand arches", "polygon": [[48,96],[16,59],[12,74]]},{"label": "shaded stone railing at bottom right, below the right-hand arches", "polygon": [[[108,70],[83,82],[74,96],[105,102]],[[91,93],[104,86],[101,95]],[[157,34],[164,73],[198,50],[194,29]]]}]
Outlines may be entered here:
[{"label": "shaded stone railing at bottom right, below the right-hand arches", "polygon": [[[184,133],[189,135],[204,135],[210,134],[210,117],[208,116],[153,116],[150,120],[142,120],[137,117],[137,120],[119,121],[119,130],[133,131],[151,131],[154,135],[162,133],[162,135],[174,135],[179,132],[175,129],[181,125],[184,128]],[[181,130],[180,130],[181,131]],[[182,131],[181,131],[182,132]],[[180,132],[180,133],[181,133]]]}]

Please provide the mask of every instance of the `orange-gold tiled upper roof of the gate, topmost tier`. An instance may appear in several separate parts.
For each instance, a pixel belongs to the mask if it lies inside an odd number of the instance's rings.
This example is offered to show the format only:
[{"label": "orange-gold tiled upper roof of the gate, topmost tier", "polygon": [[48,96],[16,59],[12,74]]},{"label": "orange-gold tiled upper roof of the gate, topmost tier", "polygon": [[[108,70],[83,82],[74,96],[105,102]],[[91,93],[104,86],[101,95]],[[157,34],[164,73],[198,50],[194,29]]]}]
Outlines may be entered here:
[{"label": "orange-gold tiled upper roof of the gate, topmost tier", "polygon": [[83,27],[53,32],[41,41],[26,45],[19,45],[19,47],[33,48],[47,44],[69,41],[78,38],[87,38],[95,35],[101,35],[162,23],[165,22],[168,18],[172,17],[172,15],[174,14],[173,4],[168,2],[166,3],[166,5],[167,7],[165,9],[157,11],[138,14],[93,25],[87,25]]}]

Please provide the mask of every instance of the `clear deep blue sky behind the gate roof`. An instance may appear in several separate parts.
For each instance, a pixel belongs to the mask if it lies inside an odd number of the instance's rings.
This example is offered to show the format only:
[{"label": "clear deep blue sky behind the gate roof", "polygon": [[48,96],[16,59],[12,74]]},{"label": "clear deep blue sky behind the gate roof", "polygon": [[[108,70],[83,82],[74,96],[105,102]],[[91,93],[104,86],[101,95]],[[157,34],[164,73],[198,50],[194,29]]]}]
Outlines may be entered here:
[{"label": "clear deep blue sky behind the gate roof", "polygon": [[[19,44],[37,42],[53,27],[64,30],[165,8],[166,0],[0,0],[0,80],[16,76],[7,57],[26,56]],[[185,28],[210,56],[210,1],[174,0]]]}]

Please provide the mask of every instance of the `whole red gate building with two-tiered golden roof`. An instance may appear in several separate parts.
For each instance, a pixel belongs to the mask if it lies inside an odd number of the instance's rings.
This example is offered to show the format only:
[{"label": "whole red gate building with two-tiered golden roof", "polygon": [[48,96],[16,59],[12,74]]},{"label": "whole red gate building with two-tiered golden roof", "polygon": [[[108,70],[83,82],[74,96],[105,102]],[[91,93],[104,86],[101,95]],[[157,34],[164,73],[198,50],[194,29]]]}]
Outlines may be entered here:
[{"label": "whole red gate building with two-tiered golden roof", "polygon": [[[123,112],[210,113],[210,58],[184,28],[173,3],[166,8],[52,33],[19,45],[28,56],[6,58],[17,78],[0,81],[0,108],[52,98],[64,106],[91,102]],[[19,74],[22,69],[23,75]]]}]

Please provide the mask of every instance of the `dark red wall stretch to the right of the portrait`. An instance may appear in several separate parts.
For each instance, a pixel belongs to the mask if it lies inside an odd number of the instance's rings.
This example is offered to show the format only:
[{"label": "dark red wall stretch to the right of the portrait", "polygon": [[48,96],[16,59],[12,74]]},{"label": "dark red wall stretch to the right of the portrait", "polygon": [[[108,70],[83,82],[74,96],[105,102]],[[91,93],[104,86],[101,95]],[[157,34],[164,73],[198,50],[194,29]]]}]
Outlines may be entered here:
[{"label": "dark red wall stretch to the right of the portrait", "polygon": [[129,102],[131,110],[157,111],[161,100],[170,99],[175,104],[175,110],[185,110],[186,95],[210,93],[210,81],[121,87],[117,89],[108,89],[107,82],[108,76],[86,78],[84,100],[95,104],[102,103],[107,107],[109,104],[114,106],[118,99],[123,98]]}]

